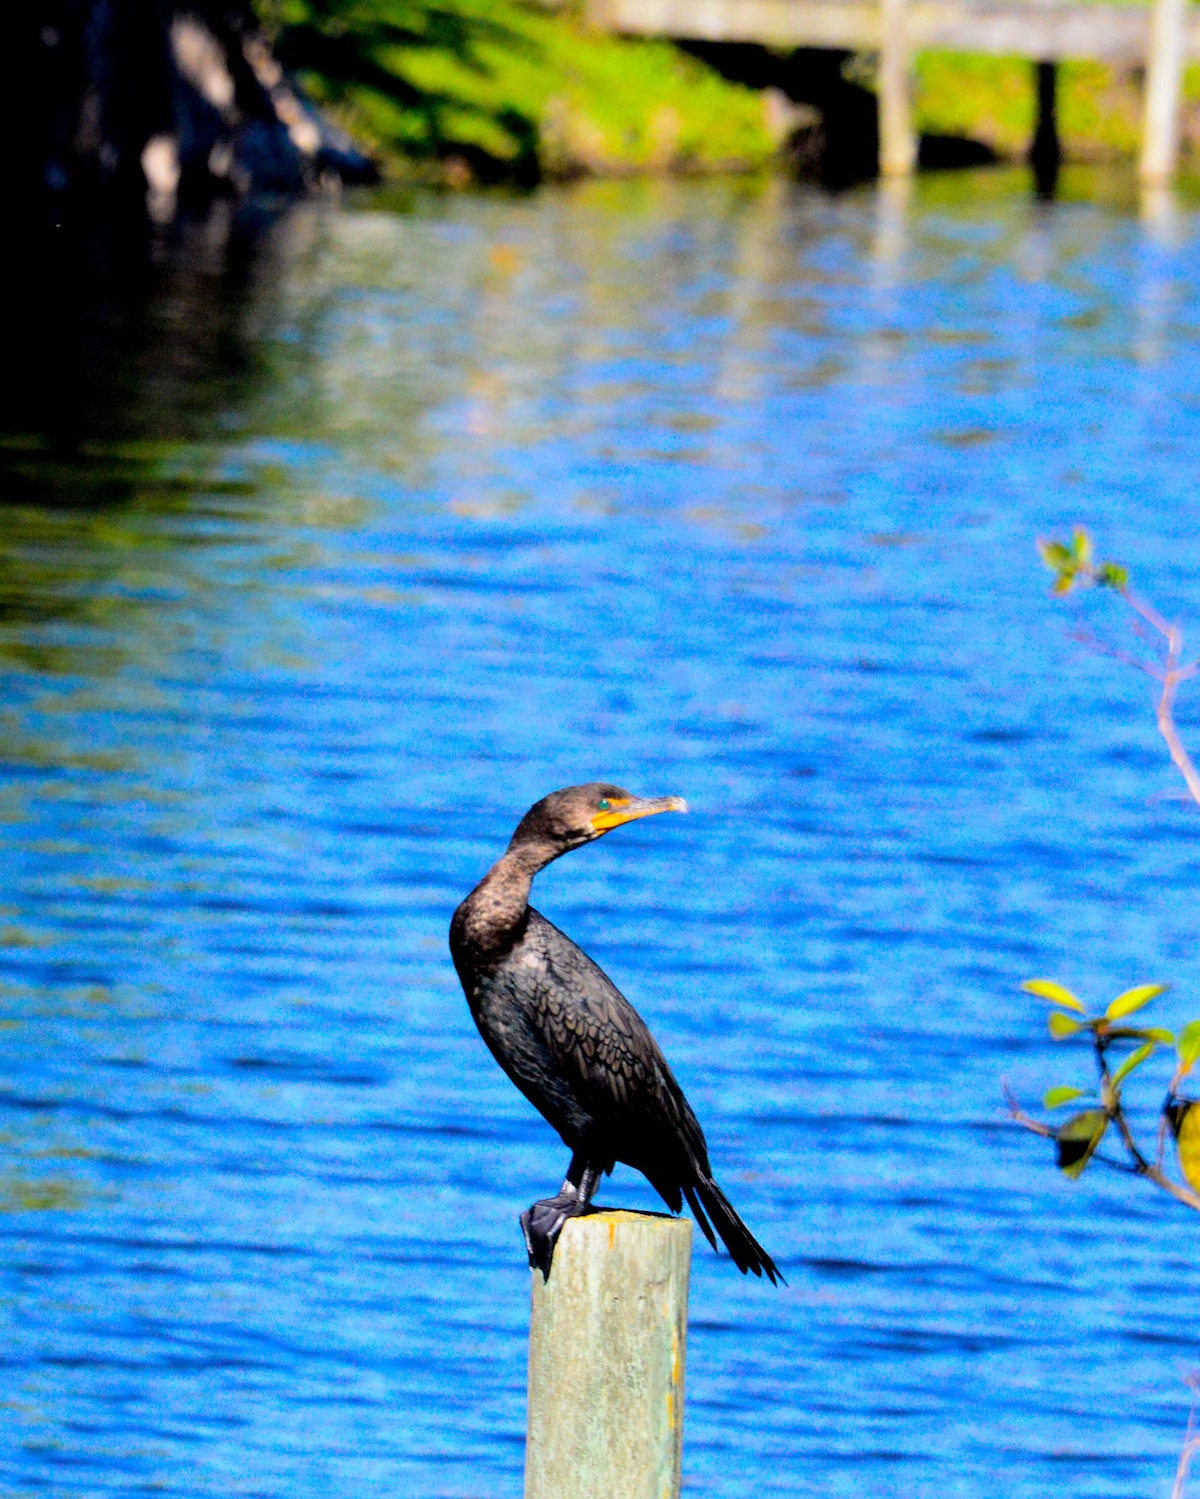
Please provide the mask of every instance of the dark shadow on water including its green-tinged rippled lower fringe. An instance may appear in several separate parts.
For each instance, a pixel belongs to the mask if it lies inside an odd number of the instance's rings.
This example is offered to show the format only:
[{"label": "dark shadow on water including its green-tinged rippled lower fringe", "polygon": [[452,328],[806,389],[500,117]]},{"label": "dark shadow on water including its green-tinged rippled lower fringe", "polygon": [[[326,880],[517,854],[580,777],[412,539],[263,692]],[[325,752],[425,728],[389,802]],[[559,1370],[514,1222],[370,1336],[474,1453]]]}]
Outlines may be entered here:
[{"label": "dark shadow on water including its green-tinged rippled lower fringe", "polygon": [[253,478],[219,472],[207,444],[270,384],[252,330],[285,223],[219,202],[169,234],[6,246],[21,376],[0,417],[0,660],[103,669],[105,645],[78,630],[112,627],[154,594],[123,576],[130,559],[177,546],[163,529],[172,517],[256,493]]}]

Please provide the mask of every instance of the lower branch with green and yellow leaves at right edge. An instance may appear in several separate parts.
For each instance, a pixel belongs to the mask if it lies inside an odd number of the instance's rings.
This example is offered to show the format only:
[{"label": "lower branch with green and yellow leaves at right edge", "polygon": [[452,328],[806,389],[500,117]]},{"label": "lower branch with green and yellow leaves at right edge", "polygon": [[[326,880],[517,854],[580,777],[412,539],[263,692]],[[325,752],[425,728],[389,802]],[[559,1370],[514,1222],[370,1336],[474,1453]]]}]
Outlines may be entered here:
[{"label": "lower branch with green and yellow leaves at right edge", "polygon": [[[1055,1006],[1047,1018],[1053,1040],[1068,1040],[1074,1036],[1088,1040],[1097,1067],[1097,1085],[1094,1088],[1062,1085],[1046,1093],[1041,1102],[1043,1108],[1050,1112],[1076,1099],[1095,1100],[1089,1108],[1073,1114],[1065,1124],[1059,1126],[1032,1118],[1005,1085],[1004,1097],[1011,1118],[1034,1135],[1055,1141],[1058,1166],[1071,1181],[1077,1181],[1092,1160],[1101,1160],[1119,1171],[1146,1177],[1163,1192],[1169,1192],[1179,1202],[1200,1213],[1200,1106],[1179,1093],[1184,1079],[1200,1061],[1200,1019],[1185,1025],[1178,1037],[1160,1027],[1127,1024],[1130,1015],[1166,991],[1166,983],[1140,983],[1127,989],[1109,1004],[1103,1015],[1088,1015],[1083,1003],[1052,979],[1029,979],[1022,988]],[[1113,1066],[1110,1054],[1127,1045],[1133,1045],[1133,1049]],[[1149,1061],[1160,1046],[1175,1046],[1178,1064],[1167,1084],[1157,1148],[1148,1151],[1139,1144],[1130,1124],[1124,1090],[1127,1079],[1145,1061]],[[1100,1142],[1110,1129],[1121,1144],[1124,1153],[1121,1160],[1098,1154]],[[1163,1169],[1169,1132],[1175,1138],[1179,1171],[1188,1186],[1173,1181]]]}]

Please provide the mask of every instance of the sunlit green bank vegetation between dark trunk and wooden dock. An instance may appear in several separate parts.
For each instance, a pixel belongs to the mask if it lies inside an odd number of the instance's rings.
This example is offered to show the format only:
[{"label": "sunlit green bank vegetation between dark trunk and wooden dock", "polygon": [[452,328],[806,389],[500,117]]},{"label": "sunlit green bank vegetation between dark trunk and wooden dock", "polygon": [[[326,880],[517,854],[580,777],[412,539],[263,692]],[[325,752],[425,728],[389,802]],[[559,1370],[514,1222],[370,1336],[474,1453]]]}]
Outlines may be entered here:
[{"label": "sunlit green bank vegetation between dark trunk and wooden dock", "polygon": [[261,0],[285,64],[391,175],[751,169],[763,94],[521,0]]}]

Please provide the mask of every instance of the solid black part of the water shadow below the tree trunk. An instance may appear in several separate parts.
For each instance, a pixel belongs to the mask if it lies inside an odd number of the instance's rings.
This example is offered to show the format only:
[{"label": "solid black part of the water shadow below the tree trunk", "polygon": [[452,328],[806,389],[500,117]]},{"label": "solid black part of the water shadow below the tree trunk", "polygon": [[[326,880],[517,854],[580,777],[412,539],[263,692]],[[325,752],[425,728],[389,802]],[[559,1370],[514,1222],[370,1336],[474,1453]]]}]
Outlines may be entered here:
[{"label": "solid black part of the water shadow below the tree trunk", "polygon": [[246,319],[270,283],[276,229],[220,202],[157,237],[9,246],[21,381],[0,429],[0,501],[121,502],[153,472],[156,442],[211,432],[264,376]]}]

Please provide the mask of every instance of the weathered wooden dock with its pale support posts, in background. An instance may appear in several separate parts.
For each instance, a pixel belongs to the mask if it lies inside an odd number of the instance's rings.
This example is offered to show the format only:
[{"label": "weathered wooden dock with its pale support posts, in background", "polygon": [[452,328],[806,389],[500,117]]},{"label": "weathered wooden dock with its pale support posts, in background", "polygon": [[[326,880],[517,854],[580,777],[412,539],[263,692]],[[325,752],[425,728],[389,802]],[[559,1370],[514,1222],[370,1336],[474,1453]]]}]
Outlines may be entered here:
[{"label": "weathered wooden dock with its pale support posts, in background", "polygon": [[990,52],[1055,64],[1068,58],[1146,66],[1142,178],[1175,175],[1184,61],[1200,57],[1188,0],[1152,6],[1061,0],[590,0],[593,24],[634,36],[819,46],[879,55],[879,169],[917,159],[911,58],[920,51]]}]

